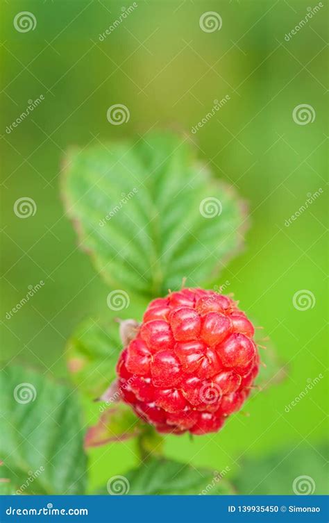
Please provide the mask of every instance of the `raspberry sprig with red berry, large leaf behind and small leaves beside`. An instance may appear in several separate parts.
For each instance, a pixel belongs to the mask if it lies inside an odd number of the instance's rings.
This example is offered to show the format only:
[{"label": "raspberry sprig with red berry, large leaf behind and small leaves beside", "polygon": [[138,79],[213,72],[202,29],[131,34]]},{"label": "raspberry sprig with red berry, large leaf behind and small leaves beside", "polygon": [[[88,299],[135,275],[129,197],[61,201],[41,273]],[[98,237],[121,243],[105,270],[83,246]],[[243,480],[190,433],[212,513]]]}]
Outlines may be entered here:
[{"label": "raspberry sprig with red berry, large leaf behind and small leaves beside", "polygon": [[[244,244],[246,204],[171,132],[71,149],[65,165],[67,214],[110,285],[101,296],[106,321],[88,319],[68,347],[71,376],[96,408],[85,447],[133,438],[148,467],[132,481],[151,478],[153,465],[165,477],[183,469],[165,459],[164,438],[217,433],[258,377],[253,323],[214,290]],[[278,374],[269,351],[264,358],[267,376]],[[192,481],[192,471],[182,474]],[[228,493],[222,481],[218,489]],[[196,490],[184,483],[182,492]]]}]

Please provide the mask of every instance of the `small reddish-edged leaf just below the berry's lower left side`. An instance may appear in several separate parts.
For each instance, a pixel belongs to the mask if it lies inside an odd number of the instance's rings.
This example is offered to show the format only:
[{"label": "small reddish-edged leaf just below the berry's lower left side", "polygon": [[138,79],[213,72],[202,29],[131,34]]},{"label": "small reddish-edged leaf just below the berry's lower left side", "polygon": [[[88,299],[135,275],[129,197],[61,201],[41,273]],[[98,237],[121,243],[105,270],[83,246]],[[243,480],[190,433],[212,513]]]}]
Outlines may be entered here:
[{"label": "small reddish-edged leaf just below the berry's lower left side", "polygon": [[107,408],[99,422],[88,429],[85,436],[85,447],[99,447],[109,442],[134,438],[140,434],[142,421],[130,407],[123,403]]}]

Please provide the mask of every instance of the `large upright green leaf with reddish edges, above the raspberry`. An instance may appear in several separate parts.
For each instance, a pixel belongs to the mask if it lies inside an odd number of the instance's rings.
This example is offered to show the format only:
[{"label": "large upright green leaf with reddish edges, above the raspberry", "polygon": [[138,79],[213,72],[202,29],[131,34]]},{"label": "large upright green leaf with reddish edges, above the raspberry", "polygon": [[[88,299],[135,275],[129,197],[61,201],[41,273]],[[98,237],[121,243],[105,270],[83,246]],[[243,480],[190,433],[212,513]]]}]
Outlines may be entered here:
[{"label": "large upright green leaf with reddish edges, above the raspberry", "polygon": [[67,214],[114,288],[159,296],[185,276],[187,286],[200,285],[242,243],[242,203],[212,179],[184,136],[149,133],[135,143],[71,149],[65,165]]}]

